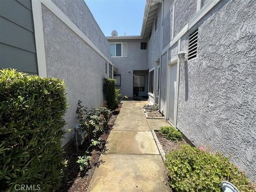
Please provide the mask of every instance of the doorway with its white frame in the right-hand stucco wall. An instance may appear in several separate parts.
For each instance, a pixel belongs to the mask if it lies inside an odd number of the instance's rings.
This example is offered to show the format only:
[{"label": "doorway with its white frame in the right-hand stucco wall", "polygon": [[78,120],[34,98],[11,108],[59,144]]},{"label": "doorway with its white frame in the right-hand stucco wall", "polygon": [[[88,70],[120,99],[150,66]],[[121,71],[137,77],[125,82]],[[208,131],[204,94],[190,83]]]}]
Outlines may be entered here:
[{"label": "doorway with its white frame in the right-hand stucco wall", "polygon": [[171,63],[168,69],[168,87],[167,87],[167,119],[175,125],[175,104],[177,95],[177,62]]}]

